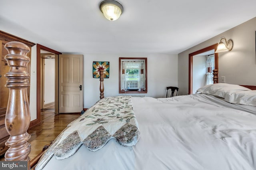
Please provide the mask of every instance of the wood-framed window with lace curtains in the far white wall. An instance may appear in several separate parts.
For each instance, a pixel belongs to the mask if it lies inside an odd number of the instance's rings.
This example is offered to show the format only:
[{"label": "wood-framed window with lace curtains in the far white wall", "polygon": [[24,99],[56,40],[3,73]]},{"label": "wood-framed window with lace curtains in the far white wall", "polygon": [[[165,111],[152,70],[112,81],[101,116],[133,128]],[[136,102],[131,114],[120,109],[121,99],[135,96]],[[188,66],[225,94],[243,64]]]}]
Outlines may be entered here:
[{"label": "wood-framed window with lace curtains in the far white wall", "polygon": [[147,58],[119,58],[119,93],[147,93]]}]

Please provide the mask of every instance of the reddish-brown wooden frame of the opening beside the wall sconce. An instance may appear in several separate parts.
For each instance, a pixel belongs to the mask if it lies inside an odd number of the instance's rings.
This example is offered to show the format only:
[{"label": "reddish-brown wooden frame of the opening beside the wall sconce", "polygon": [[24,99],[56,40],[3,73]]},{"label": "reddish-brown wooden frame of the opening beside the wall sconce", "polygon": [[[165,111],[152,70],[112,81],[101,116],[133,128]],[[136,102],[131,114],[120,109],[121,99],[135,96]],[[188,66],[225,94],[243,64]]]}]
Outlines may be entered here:
[{"label": "reddish-brown wooden frame of the opening beside the wall sconce", "polygon": [[[188,94],[193,93],[193,56],[198,55],[200,53],[210,51],[212,49],[214,49],[214,51],[216,51],[217,47],[218,47],[218,43],[188,54]],[[215,66],[214,66],[215,68],[214,69],[219,69],[219,54],[218,53],[214,53],[214,54],[215,54],[214,55],[214,60],[215,60]]]}]

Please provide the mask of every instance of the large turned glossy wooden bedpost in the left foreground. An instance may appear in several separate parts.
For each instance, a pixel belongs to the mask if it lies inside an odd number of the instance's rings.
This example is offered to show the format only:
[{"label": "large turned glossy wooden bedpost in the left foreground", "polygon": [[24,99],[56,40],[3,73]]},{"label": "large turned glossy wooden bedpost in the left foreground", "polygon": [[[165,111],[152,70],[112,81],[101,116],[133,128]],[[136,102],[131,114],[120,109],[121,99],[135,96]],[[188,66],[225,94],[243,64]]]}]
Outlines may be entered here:
[{"label": "large turned glossy wooden bedpost in the left foreground", "polygon": [[30,169],[30,134],[27,130],[30,124],[30,109],[28,103],[27,88],[29,87],[29,73],[27,73],[27,65],[30,58],[27,53],[30,48],[24,43],[8,42],[4,46],[8,55],[5,59],[10,66],[7,77],[6,87],[9,88],[9,99],[6,110],[5,125],[6,130],[10,134],[10,138],[6,141],[9,149],[6,151],[6,161],[28,161],[28,169]]}]

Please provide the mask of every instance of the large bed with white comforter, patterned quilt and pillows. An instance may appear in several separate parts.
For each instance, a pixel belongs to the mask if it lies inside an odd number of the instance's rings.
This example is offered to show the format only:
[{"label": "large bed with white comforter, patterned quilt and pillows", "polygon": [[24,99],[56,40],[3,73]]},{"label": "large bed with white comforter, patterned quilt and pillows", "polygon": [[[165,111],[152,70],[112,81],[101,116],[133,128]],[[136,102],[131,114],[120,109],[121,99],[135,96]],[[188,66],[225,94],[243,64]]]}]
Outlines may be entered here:
[{"label": "large bed with white comforter, patterned quilt and pillows", "polygon": [[255,86],[216,83],[158,99],[104,97],[103,90],[36,170],[256,169]]}]

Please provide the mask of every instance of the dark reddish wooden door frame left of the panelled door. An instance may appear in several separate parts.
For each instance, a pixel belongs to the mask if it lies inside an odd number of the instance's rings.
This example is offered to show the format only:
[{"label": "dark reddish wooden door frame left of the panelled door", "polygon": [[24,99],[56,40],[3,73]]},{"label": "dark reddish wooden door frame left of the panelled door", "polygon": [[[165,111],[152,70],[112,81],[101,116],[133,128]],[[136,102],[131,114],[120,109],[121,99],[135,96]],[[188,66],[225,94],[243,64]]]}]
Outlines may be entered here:
[{"label": "dark reddish wooden door frame left of the panelled door", "polygon": [[[36,117],[37,124],[41,122],[41,49],[45,51],[49,51],[56,55],[62,54],[54,49],[50,49],[40,44],[36,44]],[[56,64],[57,63],[57,64]],[[58,56],[55,57],[55,73],[58,70]],[[58,75],[58,71],[57,71]],[[58,110],[58,84],[56,85],[56,81],[58,83],[58,78],[55,79],[55,108]],[[57,90],[56,90],[57,89]],[[57,95],[56,95],[57,93]],[[56,109],[55,109],[56,110]]]}]

